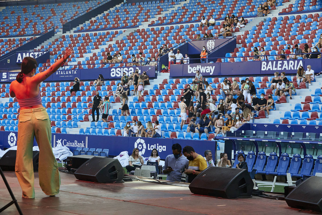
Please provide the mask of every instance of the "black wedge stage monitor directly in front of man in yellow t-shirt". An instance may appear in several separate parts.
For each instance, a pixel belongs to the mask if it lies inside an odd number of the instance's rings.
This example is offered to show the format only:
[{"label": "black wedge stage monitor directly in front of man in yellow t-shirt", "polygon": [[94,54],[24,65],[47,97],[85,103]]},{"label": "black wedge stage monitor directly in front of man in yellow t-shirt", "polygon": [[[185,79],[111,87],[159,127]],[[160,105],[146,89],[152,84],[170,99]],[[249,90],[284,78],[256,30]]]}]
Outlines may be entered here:
[{"label": "black wedge stage monitor directly in front of man in yellow t-shirt", "polygon": [[254,183],[245,169],[208,167],[190,183],[194,194],[228,199],[251,197]]}]

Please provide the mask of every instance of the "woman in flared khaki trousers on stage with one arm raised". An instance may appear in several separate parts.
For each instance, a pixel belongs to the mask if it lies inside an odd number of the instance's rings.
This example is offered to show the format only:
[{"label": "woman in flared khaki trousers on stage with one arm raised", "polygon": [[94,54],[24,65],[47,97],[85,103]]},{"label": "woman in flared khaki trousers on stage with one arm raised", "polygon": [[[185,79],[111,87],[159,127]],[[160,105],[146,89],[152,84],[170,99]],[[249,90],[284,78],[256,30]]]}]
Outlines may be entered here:
[{"label": "woman in flared khaki trousers on stage with one arm raised", "polygon": [[[52,132],[50,119],[41,103],[40,83],[61,67],[71,55],[66,50],[63,58],[57,60],[42,73],[36,73],[37,61],[25,57],[21,72],[10,84],[10,96],[16,97],[20,105],[18,123],[18,141],[15,172],[22,189],[22,197],[35,198],[33,175],[33,138],[39,146],[39,184],[48,196],[59,192],[60,177],[57,161],[52,153]],[[17,117],[18,118],[18,117]]]}]

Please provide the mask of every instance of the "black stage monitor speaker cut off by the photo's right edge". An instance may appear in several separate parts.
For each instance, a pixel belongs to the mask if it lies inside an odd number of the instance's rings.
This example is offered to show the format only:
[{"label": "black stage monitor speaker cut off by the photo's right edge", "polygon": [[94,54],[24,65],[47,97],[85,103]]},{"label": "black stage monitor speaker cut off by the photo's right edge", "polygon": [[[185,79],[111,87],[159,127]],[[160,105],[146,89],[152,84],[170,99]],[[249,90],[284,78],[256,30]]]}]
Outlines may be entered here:
[{"label": "black stage monitor speaker cut off by the photo's right edge", "polygon": [[286,196],[292,208],[322,212],[322,177],[311,176],[300,183]]}]

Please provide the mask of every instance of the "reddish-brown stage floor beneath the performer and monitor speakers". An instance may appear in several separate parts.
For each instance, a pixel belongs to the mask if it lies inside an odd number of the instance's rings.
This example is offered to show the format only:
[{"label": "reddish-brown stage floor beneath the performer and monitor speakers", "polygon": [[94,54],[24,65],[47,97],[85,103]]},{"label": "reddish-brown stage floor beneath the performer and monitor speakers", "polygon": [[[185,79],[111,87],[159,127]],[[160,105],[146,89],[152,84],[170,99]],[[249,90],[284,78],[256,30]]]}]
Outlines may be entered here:
[{"label": "reddish-brown stage floor beneath the performer and monitor speakers", "polygon": [[[220,199],[194,195],[188,187],[132,181],[102,184],[79,181],[74,175],[60,172],[60,192],[46,196],[35,173],[35,199],[21,197],[21,188],[14,172],[5,176],[24,214],[294,214],[284,200],[260,197]],[[0,207],[11,201],[0,178]],[[18,214],[14,205],[1,214]]]}]

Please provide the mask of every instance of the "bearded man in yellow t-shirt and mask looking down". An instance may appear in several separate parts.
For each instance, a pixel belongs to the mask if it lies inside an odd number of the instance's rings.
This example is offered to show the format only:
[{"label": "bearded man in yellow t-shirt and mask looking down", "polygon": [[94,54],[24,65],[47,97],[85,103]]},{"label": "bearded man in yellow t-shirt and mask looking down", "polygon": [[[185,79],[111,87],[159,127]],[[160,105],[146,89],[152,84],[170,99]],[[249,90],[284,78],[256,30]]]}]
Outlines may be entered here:
[{"label": "bearded man in yellow t-shirt and mask looking down", "polygon": [[185,146],[182,153],[189,160],[189,167],[185,170],[185,173],[188,175],[188,182],[191,183],[197,175],[207,168],[207,162],[191,146]]}]

